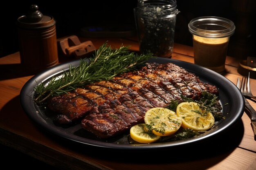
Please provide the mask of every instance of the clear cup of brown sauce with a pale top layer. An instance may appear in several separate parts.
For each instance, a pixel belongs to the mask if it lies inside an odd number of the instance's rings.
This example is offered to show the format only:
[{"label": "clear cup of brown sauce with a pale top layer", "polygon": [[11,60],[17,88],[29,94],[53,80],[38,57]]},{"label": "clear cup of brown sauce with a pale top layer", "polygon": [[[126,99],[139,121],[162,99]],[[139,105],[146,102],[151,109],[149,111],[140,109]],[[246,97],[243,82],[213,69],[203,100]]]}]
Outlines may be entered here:
[{"label": "clear cup of brown sauce with a pale top layer", "polygon": [[235,28],[234,22],[221,17],[204,16],[191,20],[189,32],[193,36],[195,64],[224,73],[229,38]]}]

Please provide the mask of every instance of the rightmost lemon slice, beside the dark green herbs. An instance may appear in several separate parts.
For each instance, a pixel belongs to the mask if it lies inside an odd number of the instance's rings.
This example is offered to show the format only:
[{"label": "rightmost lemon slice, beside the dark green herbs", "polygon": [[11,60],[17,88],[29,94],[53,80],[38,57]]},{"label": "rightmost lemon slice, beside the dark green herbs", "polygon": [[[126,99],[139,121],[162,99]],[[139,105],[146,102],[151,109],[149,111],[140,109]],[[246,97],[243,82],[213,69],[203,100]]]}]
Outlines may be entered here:
[{"label": "rightmost lemon slice, beside the dark green herbs", "polygon": [[182,102],[177,106],[177,116],[182,118],[182,127],[196,131],[208,130],[214,124],[211,112],[204,110],[195,102]]}]

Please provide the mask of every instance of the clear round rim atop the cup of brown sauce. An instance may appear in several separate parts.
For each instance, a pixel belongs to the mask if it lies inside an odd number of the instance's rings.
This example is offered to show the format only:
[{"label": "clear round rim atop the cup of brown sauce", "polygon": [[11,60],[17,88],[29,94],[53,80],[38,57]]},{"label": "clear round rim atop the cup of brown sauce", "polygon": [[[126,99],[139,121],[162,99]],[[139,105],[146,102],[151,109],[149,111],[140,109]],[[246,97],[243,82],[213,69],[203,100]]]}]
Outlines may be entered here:
[{"label": "clear round rim atop the cup of brown sauce", "polygon": [[234,34],[235,24],[231,20],[216,16],[194,18],[189,22],[189,32],[201,37],[222,38]]}]

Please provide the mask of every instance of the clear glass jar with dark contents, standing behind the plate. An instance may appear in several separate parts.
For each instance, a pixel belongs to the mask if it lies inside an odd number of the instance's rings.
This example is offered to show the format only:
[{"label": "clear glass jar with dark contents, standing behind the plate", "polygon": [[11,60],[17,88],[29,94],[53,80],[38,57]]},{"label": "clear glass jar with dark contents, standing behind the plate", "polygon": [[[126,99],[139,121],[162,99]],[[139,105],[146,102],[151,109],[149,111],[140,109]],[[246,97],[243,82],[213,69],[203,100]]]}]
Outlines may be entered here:
[{"label": "clear glass jar with dark contents, standing behind the plate", "polygon": [[176,0],[138,0],[134,14],[141,53],[171,58],[179,12]]}]

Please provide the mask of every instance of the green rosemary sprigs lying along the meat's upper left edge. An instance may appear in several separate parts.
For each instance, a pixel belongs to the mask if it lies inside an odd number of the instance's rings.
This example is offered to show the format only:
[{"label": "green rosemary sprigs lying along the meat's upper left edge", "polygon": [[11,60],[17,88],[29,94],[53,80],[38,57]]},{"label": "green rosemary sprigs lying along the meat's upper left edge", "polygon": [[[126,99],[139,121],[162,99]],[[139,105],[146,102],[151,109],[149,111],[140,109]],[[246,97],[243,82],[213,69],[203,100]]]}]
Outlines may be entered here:
[{"label": "green rosemary sprigs lying along the meat's upper left edge", "polygon": [[129,46],[111,49],[105,42],[89,58],[90,62],[81,59],[79,66],[70,65],[69,71],[64,71],[61,77],[52,77],[48,83],[36,82],[34,101],[42,104],[49,97],[67,93],[86,84],[111,79],[126,71],[136,70],[137,66],[154,57],[152,53],[137,55],[128,49]]}]

